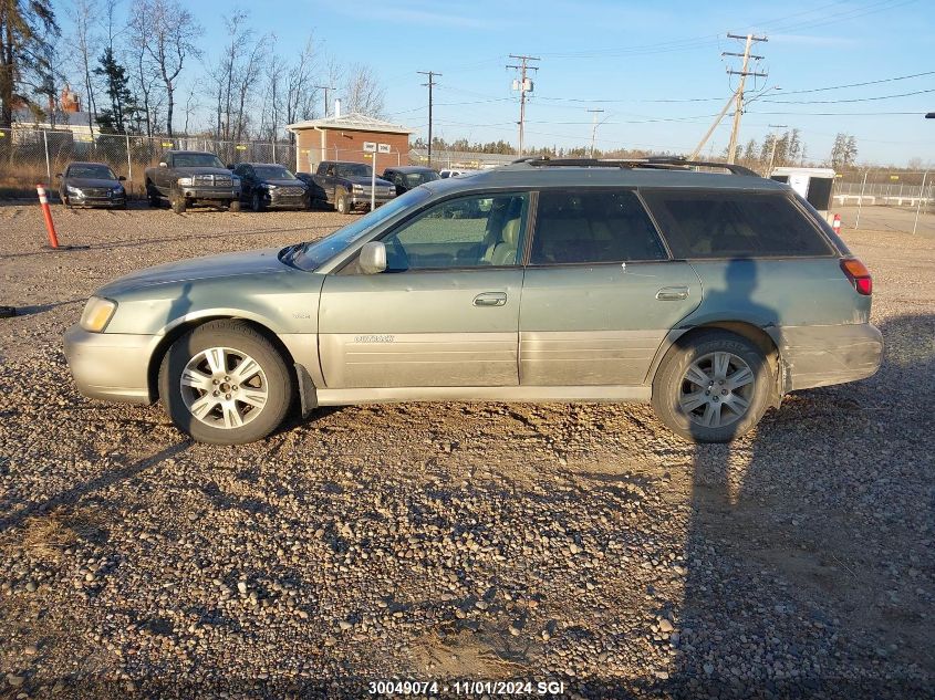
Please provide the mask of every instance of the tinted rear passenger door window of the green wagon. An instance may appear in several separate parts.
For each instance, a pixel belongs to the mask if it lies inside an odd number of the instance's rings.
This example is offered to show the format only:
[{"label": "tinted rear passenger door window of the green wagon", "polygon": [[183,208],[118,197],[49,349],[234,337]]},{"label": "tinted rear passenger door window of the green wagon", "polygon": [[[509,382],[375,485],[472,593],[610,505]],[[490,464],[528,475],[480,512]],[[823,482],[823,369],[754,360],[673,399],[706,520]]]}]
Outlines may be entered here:
[{"label": "tinted rear passenger door window of the green wagon", "polygon": [[617,190],[542,190],[530,264],[665,260],[638,197]]}]

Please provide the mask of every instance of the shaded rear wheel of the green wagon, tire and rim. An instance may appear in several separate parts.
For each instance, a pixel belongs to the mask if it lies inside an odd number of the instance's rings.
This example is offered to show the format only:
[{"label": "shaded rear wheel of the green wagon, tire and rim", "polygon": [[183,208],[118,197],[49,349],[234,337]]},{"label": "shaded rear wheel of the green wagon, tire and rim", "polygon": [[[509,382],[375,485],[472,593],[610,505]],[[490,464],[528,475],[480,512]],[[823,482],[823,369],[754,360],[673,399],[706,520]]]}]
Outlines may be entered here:
[{"label": "shaded rear wheel of the green wagon, tire and rim", "polygon": [[653,409],[690,442],[729,442],[760,421],[772,386],[756,344],[728,331],[703,331],[666,353],[653,379]]}]

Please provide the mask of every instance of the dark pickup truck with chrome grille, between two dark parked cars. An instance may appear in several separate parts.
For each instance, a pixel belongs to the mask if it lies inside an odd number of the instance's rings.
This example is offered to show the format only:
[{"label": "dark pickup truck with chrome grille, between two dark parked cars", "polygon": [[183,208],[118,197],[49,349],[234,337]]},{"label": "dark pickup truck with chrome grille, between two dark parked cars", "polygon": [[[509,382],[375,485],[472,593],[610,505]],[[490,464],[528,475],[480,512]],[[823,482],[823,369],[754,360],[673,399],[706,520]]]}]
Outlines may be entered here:
[{"label": "dark pickup truck with chrome grille, between two dark parked cars", "polygon": [[150,207],[168,199],[183,213],[196,202],[210,202],[240,211],[240,178],[218,157],[198,150],[167,150],[158,167],[146,168],[146,196]]}]

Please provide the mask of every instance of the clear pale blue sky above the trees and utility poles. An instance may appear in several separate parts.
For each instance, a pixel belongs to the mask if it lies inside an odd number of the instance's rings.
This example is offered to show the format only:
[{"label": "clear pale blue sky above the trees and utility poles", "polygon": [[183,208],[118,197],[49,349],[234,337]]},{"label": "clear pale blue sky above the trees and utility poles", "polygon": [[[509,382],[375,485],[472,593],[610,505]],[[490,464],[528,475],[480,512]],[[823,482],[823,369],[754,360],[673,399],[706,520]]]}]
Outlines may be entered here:
[{"label": "clear pale blue sky above the trees and utility poles", "polygon": [[[386,88],[384,116],[423,137],[428,95],[417,71],[435,71],[441,74],[435,135],[516,144],[517,75],[506,66],[517,63],[509,54],[537,56],[526,112],[531,146],[590,144],[589,109],[603,109],[596,113],[600,148],[693,150],[737,84],[727,70],[739,70],[740,59],[721,52],[741,53],[744,42],[727,33],[752,32],[768,41],[755,43],[752,53],[762,59],[750,70],[768,76],[747,81],[741,144],[762,142],[770,129],[799,128],[807,157],[821,160],[835,134],[845,132],[856,137],[861,163],[920,158],[935,165],[935,119],[923,118],[935,111],[931,1],[292,0],[239,7],[281,54],[298,53],[311,34],[323,54],[370,66]],[[222,17],[238,6],[186,6],[205,27],[200,45],[209,62],[226,40]],[[193,65],[186,80],[201,71]],[[855,83],[871,84],[822,90]],[[724,152],[730,122],[721,122],[705,155]]]}]

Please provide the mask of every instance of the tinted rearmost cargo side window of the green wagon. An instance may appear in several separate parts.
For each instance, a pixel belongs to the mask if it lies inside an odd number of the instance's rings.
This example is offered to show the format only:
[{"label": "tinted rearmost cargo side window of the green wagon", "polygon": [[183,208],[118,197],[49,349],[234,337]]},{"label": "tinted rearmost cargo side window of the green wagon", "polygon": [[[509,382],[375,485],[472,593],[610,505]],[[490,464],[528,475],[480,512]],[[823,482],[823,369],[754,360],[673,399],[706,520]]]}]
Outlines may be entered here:
[{"label": "tinted rearmost cargo side window of the green wagon", "polygon": [[782,194],[641,194],[676,258],[789,258],[833,252],[802,211]]}]

